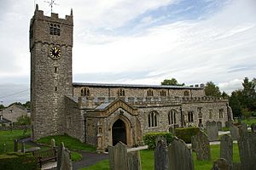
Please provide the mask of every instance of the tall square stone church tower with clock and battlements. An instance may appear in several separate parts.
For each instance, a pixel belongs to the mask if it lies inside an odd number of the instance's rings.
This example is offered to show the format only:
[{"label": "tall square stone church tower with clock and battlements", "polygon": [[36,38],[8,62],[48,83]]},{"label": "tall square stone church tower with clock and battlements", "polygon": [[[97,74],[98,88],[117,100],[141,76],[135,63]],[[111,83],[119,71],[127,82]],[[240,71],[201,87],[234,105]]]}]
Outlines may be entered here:
[{"label": "tall square stone church tower with clock and battlements", "polygon": [[60,19],[36,6],[30,23],[32,138],[63,134],[72,87],[73,11]]}]

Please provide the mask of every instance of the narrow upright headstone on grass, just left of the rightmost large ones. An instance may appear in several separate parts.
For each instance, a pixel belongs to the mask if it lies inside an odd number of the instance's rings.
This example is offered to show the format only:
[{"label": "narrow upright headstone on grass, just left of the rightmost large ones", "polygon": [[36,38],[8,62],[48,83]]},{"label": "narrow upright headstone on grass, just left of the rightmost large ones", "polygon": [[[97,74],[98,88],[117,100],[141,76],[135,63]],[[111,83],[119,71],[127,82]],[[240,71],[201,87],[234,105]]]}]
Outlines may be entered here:
[{"label": "narrow upright headstone on grass, just left of the rightmost large ones", "polygon": [[233,164],[233,140],[230,135],[224,134],[220,139],[220,158],[224,158],[232,167]]}]

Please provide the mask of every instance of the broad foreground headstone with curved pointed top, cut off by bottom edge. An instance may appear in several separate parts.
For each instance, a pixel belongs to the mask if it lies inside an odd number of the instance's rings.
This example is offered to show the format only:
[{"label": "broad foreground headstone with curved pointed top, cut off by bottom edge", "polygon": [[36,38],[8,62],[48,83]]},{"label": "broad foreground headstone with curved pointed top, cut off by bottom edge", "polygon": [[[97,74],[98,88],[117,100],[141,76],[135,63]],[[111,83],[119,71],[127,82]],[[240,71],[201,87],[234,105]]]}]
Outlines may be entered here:
[{"label": "broad foreground headstone with curved pointed top, cut off by bottom edge", "polygon": [[168,146],[170,170],[194,170],[191,150],[182,139],[174,138]]}]

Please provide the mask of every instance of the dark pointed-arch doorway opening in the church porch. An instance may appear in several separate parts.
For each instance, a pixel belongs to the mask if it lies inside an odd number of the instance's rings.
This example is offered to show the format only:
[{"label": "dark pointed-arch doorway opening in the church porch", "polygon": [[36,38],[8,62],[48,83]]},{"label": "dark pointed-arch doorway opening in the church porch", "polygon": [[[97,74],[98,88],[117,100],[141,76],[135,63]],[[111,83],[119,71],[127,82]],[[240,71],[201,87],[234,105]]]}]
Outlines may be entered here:
[{"label": "dark pointed-arch doorway opening in the church porch", "polygon": [[121,141],[123,144],[127,144],[125,122],[123,122],[120,119],[118,119],[116,122],[113,123],[112,141],[113,141],[113,146],[119,143],[119,141]]}]

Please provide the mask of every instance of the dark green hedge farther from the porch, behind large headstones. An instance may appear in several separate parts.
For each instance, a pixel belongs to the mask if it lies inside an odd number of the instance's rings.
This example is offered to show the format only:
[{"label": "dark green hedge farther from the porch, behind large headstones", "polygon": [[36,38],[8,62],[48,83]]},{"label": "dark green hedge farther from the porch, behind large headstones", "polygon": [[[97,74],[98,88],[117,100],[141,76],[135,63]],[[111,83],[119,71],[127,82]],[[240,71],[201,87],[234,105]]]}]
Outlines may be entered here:
[{"label": "dark green hedge farther from the porch, behind large headstones", "polygon": [[191,143],[191,137],[199,132],[199,127],[175,128],[175,136],[187,144]]}]

